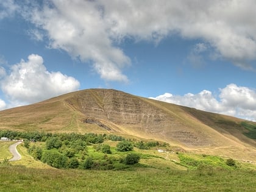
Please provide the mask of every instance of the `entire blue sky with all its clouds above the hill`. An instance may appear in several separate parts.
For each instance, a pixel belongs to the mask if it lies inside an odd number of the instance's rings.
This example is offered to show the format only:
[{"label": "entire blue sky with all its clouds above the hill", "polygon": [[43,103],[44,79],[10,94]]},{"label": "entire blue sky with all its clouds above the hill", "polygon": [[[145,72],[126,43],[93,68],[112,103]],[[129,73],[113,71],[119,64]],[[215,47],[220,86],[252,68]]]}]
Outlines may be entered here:
[{"label": "entire blue sky with all its clouds above the hill", "polygon": [[0,110],[113,88],[256,121],[256,1],[0,1]]}]

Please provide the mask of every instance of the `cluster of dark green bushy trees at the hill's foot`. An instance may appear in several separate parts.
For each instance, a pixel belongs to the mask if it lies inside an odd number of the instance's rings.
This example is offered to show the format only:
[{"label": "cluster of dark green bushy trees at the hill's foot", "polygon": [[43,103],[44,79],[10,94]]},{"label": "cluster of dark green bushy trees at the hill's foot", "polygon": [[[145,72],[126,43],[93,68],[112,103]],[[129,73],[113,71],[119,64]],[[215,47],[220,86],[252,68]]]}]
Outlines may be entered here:
[{"label": "cluster of dark green bushy trees at the hill's foot", "polygon": [[[36,160],[47,163],[55,168],[82,168],[82,169],[119,169],[124,165],[134,165],[139,162],[140,155],[133,151],[134,147],[139,149],[150,149],[155,146],[165,146],[158,141],[136,141],[126,140],[119,135],[106,135],[96,133],[48,133],[48,132],[17,132],[13,130],[0,130],[1,137],[11,140],[24,139],[24,146]],[[119,141],[116,148],[110,148],[104,144],[105,140]],[[37,144],[37,142],[43,144]],[[102,158],[95,158],[88,153],[88,146],[93,145],[96,152],[105,154]],[[112,155],[112,150],[125,152],[120,157]]]}]

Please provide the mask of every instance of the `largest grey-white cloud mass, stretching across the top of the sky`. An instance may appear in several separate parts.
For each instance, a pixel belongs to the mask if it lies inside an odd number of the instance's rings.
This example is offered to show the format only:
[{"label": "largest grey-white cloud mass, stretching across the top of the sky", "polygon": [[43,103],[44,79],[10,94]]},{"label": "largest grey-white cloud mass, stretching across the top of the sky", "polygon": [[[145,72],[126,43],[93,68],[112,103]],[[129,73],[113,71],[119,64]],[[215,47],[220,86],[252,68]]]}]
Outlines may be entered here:
[{"label": "largest grey-white cloud mass, stretching across the top of the sky", "polygon": [[[255,7],[254,0],[51,0],[21,10],[35,27],[44,30],[50,48],[92,61],[102,79],[127,81],[123,69],[130,59],[119,48],[126,38],[158,43],[169,35],[180,35],[201,40],[197,46],[207,44],[212,55],[240,68],[254,68]],[[35,37],[42,37],[33,31]],[[202,56],[195,53],[189,55],[192,62],[202,63]]]}]

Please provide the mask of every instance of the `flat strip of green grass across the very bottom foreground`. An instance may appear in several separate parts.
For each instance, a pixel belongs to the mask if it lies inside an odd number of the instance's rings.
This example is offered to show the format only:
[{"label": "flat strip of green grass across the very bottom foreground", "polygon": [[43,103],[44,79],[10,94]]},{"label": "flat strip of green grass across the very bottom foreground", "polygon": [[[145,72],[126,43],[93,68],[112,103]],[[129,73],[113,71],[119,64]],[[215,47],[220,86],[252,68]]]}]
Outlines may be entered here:
[{"label": "flat strip of green grass across the very bottom foreground", "polygon": [[0,166],[2,191],[255,191],[255,171],[135,168],[132,171]]}]

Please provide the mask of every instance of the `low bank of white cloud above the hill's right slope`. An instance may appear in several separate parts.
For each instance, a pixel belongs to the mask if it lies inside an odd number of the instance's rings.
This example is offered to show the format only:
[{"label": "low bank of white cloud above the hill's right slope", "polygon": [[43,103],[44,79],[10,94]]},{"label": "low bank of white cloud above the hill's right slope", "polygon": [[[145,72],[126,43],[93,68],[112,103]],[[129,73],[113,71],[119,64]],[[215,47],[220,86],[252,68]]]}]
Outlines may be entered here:
[{"label": "low bank of white cloud above the hill's right slope", "polygon": [[197,94],[188,93],[183,96],[165,93],[151,99],[256,121],[256,90],[235,84],[219,89],[218,98],[213,96],[211,91],[203,90]]}]

